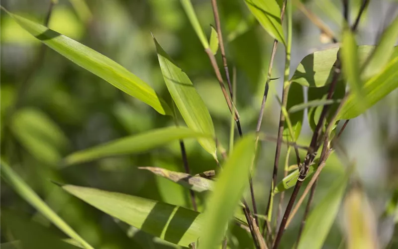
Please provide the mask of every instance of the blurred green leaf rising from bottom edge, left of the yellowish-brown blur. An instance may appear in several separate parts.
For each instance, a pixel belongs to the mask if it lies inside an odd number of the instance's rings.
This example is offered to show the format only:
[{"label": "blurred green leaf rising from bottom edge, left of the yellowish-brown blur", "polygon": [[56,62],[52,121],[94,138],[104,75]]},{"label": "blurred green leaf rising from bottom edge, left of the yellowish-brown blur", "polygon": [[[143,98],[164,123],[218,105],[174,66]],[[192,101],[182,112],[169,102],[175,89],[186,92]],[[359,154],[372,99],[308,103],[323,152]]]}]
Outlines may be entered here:
[{"label": "blurred green leaf rising from bottom edge, left of the yellowish-brown blur", "polygon": [[322,200],[314,206],[305,222],[298,249],[322,248],[327,234],[336,219],[348,179],[349,174],[347,172],[336,180]]}]

